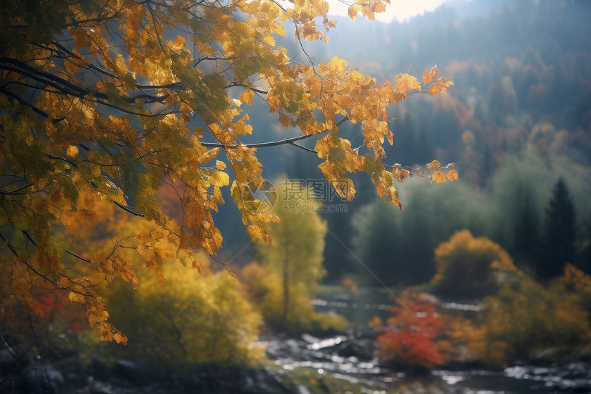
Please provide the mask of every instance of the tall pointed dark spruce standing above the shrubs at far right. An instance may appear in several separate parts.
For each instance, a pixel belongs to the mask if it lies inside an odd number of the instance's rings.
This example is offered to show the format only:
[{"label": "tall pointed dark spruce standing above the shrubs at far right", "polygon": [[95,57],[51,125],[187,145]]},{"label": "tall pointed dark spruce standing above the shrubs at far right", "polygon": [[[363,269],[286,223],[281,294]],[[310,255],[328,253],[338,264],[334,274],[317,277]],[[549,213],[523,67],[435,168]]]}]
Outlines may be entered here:
[{"label": "tall pointed dark spruce standing above the shrubs at far right", "polygon": [[544,256],[539,260],[537,275],[549,279],[562,274],[565,263],[575,257],[575,204],[564,179],[556,183],[546,208],[544,223]]}]

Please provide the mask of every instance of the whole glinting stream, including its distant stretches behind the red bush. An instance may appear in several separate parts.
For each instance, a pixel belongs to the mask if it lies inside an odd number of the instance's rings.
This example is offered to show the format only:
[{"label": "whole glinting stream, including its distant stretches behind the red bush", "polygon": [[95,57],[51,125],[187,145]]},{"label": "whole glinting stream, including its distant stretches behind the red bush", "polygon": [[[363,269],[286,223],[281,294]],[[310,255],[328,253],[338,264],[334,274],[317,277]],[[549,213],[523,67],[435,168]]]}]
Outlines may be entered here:
[{"label": "whole glinting stream, including its distant stretches behind the red bush", "polygon": [[[338,313],[367,327],[373,316],[385,318],[392,305],[376,294],[350,296],[323,294],[315,301],[317,311]],[[379,301],[376,301],[379,300]],[[447,309],[467,313],[480,310],[477,304],[447,303]],[[434,370],[422,375],[392,372],[377,360],[375,338],[370,331],[315,338],[268,338],[267,353],[276,371],[298,386],[299,394],[315,393],[591,393],[591,369],[584,362],[562,366],[513,366],[504,371]],[[322,389],[318,387],[322,386]]]}]

